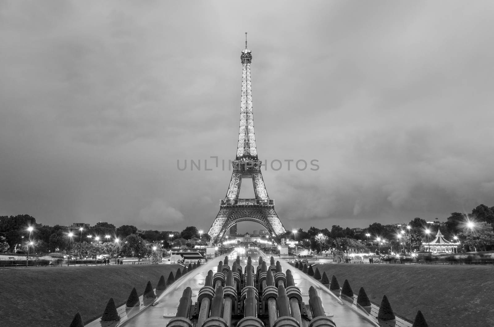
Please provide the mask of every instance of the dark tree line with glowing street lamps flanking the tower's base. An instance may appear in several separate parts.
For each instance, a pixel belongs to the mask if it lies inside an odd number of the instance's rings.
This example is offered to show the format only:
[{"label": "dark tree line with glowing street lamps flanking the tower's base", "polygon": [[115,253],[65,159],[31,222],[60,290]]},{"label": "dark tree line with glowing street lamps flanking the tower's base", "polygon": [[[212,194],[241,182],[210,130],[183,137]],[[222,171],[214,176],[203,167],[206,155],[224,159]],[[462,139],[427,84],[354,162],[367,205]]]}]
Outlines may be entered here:
[{"label": "dark tree line with glowing street lamps flanking the tower's base", "polygon": [[[33,232],[29,240],[27,227],[32,226]],[[480,204],[471,213],[453,212],[441,227],[441,232],[448,241],[459,240],[465,251],[491,250],[494,245],[494,206]],[[310,227],[302,228],[279,235],[274,239],[278,244],[282,238],[294,240],[316,253],[330,248],[356,251],[380,250],[381,252],[400,252],[423,250],[422,242],[434,239],[440,226],[427,224],[422,218],[412,219],[401,228],[387,228],[380,223],[372,223],[360,233],[350,228],[332,225],[331,229]],[[69,237],[68,233],[73,232]],[[429,231],[427,234],[426,231]],[[77,227],[48,226],[39,224],[30,215],[0,216],[0,252],[26,252],[27,246],[31,253],[82,252],[93,255],[96,252],[120,253],[124,255],[145,255],[154,247],[164,249],[174,246],[207,245],[209,235],[201,233],[195,226],[188,226],[181,232],[177,231],[145,231],[138,234],[132,225],[115,225],[98,222],[94,226],[80,231]],[[369,235],[369,236],[367,236]],[[107,236],[109,236],[107,238]],[[96,238],[98,240],[96,241]],[[118,240],[118,242],[116,242]],[[33,242],[31,245],[30,242]]]}]

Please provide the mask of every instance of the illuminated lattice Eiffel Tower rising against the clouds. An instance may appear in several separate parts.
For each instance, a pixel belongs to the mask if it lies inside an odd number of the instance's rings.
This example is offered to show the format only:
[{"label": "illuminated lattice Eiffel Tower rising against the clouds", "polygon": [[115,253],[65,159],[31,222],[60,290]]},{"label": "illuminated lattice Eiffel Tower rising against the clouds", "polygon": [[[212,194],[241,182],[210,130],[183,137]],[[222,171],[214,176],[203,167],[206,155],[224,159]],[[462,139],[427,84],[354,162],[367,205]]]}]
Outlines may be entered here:
[{"label": "illuminated lattice Eiffel Tower rising against the clouds", "polygon": [[[252,91],[250,84],[251,51],[246,48],[240,56],[242,61],[242,95],[240,100],[240,131],[237,156],[232,162],[233,173],[225,200],[220,200],[219,212],[207,234],[211,243],[221,241],[231,227],[241,221],[254,221],[264,226],[271,236],[286,233],[285,227],[275,211],[273,199],[269,199],[261,174],[261,161],[257,158],[252,113]],[[255,199],[239,199],[243,179],[252,180]]]}]

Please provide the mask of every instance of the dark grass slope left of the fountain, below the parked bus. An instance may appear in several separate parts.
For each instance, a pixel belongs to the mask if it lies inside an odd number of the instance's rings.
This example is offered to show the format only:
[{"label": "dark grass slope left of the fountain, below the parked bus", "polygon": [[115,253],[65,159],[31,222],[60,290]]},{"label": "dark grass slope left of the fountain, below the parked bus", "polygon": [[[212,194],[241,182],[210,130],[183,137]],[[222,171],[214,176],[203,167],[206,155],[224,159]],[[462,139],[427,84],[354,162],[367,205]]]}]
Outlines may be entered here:
[{"label": "dark grass slope left of the fountain, below the parked bus", "polygon": [[113,297],[124,304],[135,287],[156,287],[178,265],[112,265],[0,269],[1,326],[70,326],[79,311],[87,323]]}]

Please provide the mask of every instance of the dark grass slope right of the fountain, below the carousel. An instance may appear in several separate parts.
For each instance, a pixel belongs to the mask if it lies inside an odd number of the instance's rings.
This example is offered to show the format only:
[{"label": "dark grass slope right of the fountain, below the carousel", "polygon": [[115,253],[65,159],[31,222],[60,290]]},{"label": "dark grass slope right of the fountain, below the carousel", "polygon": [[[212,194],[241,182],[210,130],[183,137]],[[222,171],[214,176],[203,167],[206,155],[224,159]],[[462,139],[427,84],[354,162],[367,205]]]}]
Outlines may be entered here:
[{"label": "dark grass slope right of the fountain, below the carousel", "polygon": [[389,299],[393,311],[413,321],[421,310],[429,326],[492,326],[493,266],[324,264],[319,270],[364,287],[379,305]]}]

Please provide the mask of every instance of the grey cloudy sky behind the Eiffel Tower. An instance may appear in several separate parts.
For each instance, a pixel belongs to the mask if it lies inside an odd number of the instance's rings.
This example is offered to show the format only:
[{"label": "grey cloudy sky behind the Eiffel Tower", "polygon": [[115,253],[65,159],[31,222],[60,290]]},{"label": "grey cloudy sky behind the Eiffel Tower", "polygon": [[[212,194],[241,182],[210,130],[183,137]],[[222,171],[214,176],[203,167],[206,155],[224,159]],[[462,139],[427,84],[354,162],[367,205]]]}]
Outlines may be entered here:
[{"label": "grey cloudy sky behind the Eiffel Tower", "polygon": [[494,205],[493,17],[492,1],[0,1],[0,215],[208,230],[245,32],[287,229]]}]

